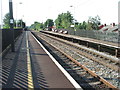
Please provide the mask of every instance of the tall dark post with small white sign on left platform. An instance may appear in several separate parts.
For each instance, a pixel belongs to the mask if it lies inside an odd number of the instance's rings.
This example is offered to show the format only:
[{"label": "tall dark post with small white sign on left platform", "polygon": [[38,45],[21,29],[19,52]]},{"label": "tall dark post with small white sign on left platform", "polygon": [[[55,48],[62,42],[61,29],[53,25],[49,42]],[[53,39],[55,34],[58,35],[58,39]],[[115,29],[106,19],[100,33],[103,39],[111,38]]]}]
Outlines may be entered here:
[{"label": "tall dark post with small white sign on left platform", "polygon": [[12,0],[9,0],[9,14],[10,14],[10,30],[11,30],[11,51],[15,51],[14,47],[14,19],[13,19],[13,7]]}]

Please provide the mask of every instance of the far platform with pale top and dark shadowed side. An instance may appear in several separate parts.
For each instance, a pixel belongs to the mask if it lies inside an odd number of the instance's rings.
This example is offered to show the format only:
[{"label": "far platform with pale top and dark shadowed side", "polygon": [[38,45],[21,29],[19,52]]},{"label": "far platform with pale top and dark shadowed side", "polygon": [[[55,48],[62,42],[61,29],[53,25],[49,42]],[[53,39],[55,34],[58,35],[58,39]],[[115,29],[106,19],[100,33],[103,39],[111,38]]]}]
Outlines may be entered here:
[{"label": "far platform with pale top and dark shadowed side", "polygon": [[93,48],[97,51],[104,52],[118,58],[120,57],[119,41],[118,43],[110,43],[110,42],[105,42],[105,41],[91,39],[91,38],[83,38],[79,36],[54,33],[51,31],[40,31],[40,32],[51,35],[51,36],[55,36],[70,42],[78,43],[79,45],[83,45],[88,48]]}]

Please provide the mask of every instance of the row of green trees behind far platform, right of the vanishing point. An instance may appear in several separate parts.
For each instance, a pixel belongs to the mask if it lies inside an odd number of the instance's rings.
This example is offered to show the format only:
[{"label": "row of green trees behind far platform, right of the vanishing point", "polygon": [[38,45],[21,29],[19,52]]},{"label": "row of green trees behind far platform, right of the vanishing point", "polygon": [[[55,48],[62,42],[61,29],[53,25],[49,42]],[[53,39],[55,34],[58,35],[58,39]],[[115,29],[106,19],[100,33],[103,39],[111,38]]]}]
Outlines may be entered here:
[{"label": "row of green trees behind far platform, right of the vanishing point", "polygon": [[101,19],[98,15],[95,17],[89,17],[88,21],[79,23],[73,18],[72,14],[67,11],[67,13],[59,14],[55,21],[52,19],[47,19],[44,23],[34,22],[30,28],[34,30],[40,30],[55,26],[57,29],[67,29],[73,28],[71,25],[74,25],[75,29],[98,30],[100,24]]}]

